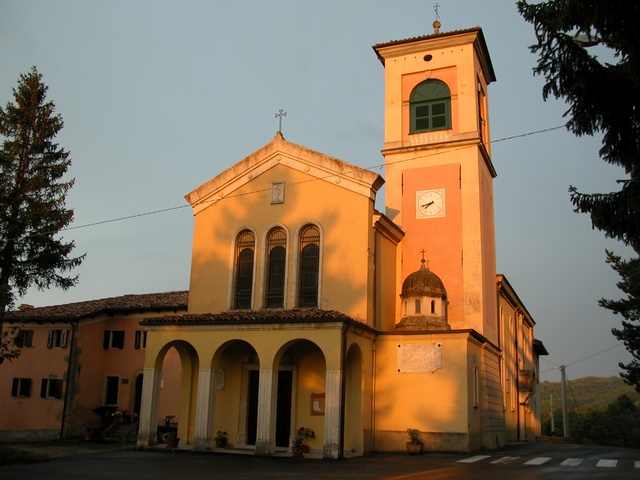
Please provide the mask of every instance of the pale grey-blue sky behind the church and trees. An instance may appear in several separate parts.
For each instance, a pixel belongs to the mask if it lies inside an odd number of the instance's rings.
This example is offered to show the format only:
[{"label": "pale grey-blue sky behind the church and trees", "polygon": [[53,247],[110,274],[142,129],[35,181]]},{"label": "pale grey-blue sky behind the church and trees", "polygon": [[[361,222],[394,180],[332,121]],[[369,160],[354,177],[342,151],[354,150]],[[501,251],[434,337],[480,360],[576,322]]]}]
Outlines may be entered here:
[{"label": "pale grey-blue sky behind the church and trees", "polygon": [[[383,67],[371,47],[433,33],[435,3],[0,0],[0,104],[35,65],[73,162],[75,218],[63,236],[87,254],[76,287],[29,291],[18,304],[187,290],[184,195],[269,143],[280,109],[287,140],[384,175]],[[621,318],[598,299],[622,296],[605,249],[631,251],[574,213],[568,188],[613,191],[624,172],[598,157],[600,138],[555,128],[567,106],[543,101],[533,27],[514,0],[437,3],[441,31],[482,27],[496,73],[497,271],[550,353],[541,379],[558,381],[561,365],[569,380],[618,375],[630,359],[611,334]]]}]

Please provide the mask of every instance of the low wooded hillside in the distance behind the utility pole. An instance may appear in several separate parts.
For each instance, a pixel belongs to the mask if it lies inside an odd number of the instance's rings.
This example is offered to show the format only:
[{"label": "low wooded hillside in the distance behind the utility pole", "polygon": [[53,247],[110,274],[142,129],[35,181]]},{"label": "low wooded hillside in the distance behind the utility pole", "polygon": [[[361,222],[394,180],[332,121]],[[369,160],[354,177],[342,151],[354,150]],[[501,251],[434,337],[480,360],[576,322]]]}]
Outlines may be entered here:
[{"label": "low wooded hillside in the distance behind the utility pole", "polygon": [[[562,408],[562,392],[560,382],[542,382],[538,385],[541,402],[542,419],[549,417],[551,395],[553,409]],[[584,377],[570,380],[567,383],[567,406],[581,411],[604,410],[620,395],[627,394],[633,402],[640,406],[640,393],[624,383],[620,377]]]}]

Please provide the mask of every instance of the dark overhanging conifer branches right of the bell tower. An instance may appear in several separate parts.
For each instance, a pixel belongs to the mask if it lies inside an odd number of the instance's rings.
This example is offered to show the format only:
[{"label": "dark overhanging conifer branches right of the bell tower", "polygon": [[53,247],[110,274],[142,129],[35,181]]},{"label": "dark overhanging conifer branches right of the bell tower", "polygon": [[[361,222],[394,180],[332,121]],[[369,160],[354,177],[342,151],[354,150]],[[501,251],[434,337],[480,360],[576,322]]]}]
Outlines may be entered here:
[{"label": "dark overhanging conifer branches right of the bell tower", "polygon": [[[543,98],[564,99],[569,109],[567,129],[575,135],[602,134],[600,157],[624,169],[620,189],[582,193],[569,188],[576,212],[588,213],[605,236],[624,242],[640,254],[640,3],[625,0],[551,0],[530,5],[518,2],[524,19],[533,24],[538,54],[534,73],[545,78]],[[594,42],[592,42],[592,40]],[[612,54],[611,62],[593,55],[591,43]],[[620,364],[621,375],[640,389],[640,326],[637,272],[640,258],[622,261],[607,252],[607,262],[629,295],[600,304],[624,316],[622,330],[614,329],[634,360]]]}]

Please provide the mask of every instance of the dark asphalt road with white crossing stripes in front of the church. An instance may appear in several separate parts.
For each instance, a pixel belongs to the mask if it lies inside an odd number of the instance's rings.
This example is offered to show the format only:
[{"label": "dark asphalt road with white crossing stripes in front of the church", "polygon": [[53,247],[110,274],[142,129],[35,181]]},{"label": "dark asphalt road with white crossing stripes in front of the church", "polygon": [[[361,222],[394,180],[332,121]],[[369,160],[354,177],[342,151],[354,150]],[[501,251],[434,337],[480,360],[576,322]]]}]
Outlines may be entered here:
[{"label": "dark asphalt road with white crossing stripes in front of the church", "polygon": [[0,467],[2,480],[28,479],[638,479],[640,450],[557,442],[474,454],[376,454],[348,460],[125,450]]}]

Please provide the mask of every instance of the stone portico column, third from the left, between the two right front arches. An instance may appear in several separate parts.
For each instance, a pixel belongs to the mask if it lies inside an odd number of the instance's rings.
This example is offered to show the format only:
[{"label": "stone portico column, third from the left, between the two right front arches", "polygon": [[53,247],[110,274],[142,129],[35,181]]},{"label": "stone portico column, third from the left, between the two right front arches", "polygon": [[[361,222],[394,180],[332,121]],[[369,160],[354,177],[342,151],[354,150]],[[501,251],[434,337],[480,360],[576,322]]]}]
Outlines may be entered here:
[{"label": "stone portico column, third from the left, between the two right front arches", "polygon": [[260,370],[258,385],[258,431],[256,455],[273,455],[276,452],[276,392],[278,372]]}]

